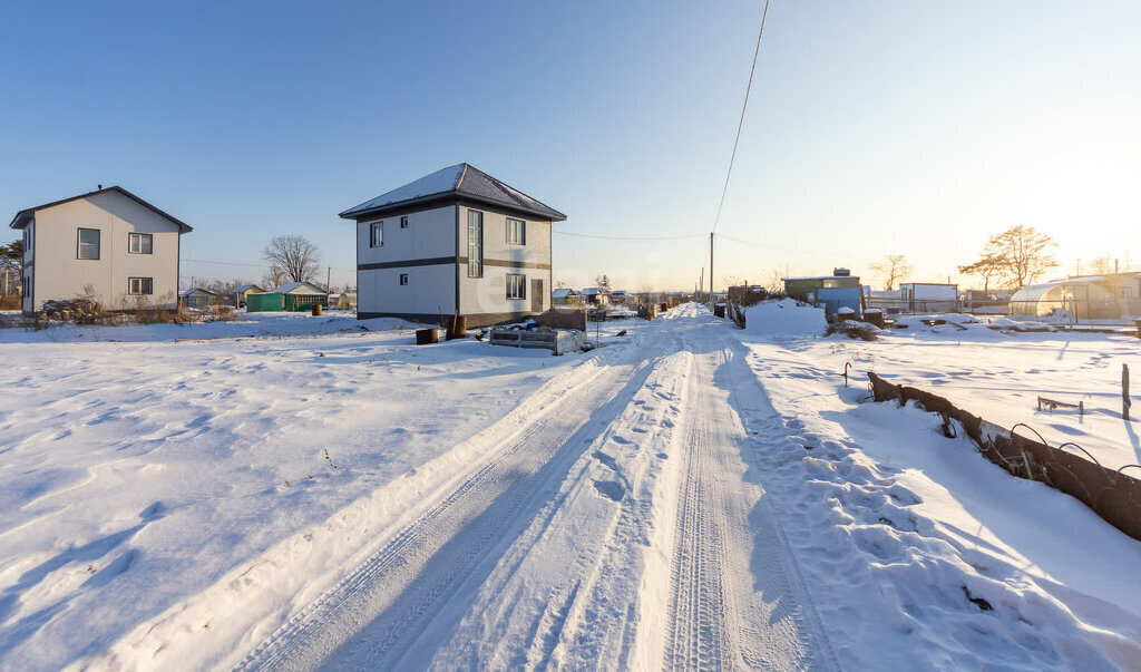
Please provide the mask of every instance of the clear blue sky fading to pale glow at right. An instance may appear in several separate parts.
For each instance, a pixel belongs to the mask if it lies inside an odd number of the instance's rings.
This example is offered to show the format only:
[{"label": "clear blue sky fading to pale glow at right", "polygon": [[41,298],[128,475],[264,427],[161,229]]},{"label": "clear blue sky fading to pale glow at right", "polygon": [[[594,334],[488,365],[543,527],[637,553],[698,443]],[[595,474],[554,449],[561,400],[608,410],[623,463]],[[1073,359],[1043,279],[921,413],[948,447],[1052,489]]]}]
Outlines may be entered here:
[{"label": "clear blue sky fading to pale glow at right", "polygon": [[[195,227],[184,259],[261,264],[297,233],[342,284],[337,212],[467,161],[566,212],[557,230],[697,236],[556,235],[557,281],[693,286],[761,7],[9,3],[0,211],[118,184]],[[1070,272],[1138,266],[1138,34],[1139,2],[774,0],[718,228],[761,245],[720,240],[718,282],[889,252],[946,278],[1014,224]]]}]

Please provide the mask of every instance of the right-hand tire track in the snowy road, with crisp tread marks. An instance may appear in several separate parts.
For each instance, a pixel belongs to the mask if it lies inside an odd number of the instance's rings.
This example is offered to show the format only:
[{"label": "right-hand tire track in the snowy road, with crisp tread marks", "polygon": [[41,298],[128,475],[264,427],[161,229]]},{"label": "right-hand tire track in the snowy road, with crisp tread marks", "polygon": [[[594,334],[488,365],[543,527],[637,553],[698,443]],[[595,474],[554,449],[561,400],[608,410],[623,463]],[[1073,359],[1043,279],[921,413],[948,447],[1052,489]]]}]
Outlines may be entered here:
[{"label": "right-hand tire track in the snowy road, with crisp tread marks", "polygon": [[[726,334],[693,332],[688,451],[674,523],[663,667],[828,669],[834,655],[763,489]],[[760,390],[758,390],[760,391]]]}]

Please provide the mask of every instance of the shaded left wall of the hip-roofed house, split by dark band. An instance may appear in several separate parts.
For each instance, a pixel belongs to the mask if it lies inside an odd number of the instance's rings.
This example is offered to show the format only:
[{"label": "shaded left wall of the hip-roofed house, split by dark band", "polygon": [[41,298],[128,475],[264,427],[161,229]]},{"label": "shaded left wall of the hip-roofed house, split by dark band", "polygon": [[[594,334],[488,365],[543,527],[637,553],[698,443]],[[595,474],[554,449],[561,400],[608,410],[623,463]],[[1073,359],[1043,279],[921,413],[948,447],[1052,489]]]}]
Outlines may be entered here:
[{"label": "shaded left wall of the hip-roofed house, split by dark band", "polygon": [[[357,265],[455,258],[454,205],[406,217],[407,228],[400,228],[399,217],[380,220],[385,222],[385,244],[379,248],[369,245],[371,222],[357,224]],[[399,283],[402,273],[408,275],[407,285]],[[357,270],[357,310],[451,315],[455,311],[455,265]]]}]

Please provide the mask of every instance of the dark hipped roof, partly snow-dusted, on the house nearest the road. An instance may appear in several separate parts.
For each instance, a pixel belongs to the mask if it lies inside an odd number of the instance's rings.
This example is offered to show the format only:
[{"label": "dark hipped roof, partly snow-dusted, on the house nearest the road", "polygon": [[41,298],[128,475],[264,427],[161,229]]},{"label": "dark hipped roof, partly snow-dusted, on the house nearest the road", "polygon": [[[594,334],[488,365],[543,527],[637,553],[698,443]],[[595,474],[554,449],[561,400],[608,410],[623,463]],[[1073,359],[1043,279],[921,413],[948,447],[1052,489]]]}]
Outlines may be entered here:
[{"label": "dark hipped roof, partly snow-dusted, on the house nearest the road", "polygon": [[532,199],[468,163],[458,163],[426,175],[403,187],[365,201],[356,208],[349,208],[339,217],[355,219],[365,214],[380,214],[387,210],[450,197],[463,197],[491,205],[501,205],[551,221],[564,221],[567,218],[558,210]]}]

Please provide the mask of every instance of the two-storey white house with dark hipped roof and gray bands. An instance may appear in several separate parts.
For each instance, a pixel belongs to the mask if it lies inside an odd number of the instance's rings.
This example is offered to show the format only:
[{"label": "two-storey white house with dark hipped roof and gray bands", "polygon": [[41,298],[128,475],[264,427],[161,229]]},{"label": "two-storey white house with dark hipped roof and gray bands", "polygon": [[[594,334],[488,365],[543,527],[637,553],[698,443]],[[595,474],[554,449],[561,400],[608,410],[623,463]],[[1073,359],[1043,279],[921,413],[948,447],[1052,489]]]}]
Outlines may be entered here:
[{"label": "two-storey white house with dark hipped roof and gray bands", "polygon": [[356,221],[357,317],[487,326],[550,308],[566,216],[460,163],[340,213]]}]

